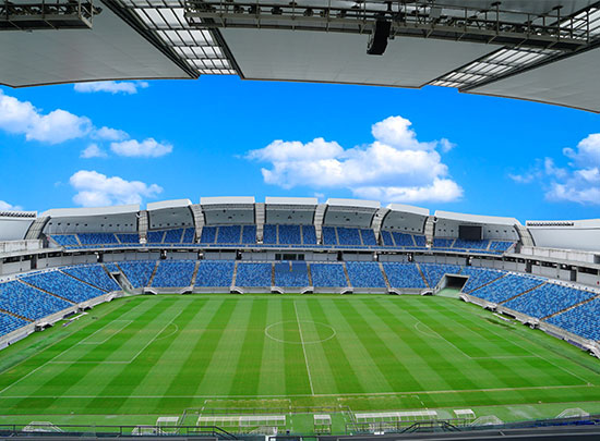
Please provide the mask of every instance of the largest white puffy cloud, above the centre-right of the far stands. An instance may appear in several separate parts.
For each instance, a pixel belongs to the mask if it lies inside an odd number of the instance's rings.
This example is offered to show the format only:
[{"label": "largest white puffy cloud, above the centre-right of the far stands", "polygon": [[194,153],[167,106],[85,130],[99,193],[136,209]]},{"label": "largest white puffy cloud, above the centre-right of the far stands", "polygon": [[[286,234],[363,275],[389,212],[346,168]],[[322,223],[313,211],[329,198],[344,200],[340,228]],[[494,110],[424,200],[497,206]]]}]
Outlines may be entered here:
[{"label": "largest white puffy cloud, above the centre-right of the far stands", "polygon": [[374,142],[368,146],[345,149],[324,138],[305,144],[274,140],[245,157],[269,163],[261,170],[263,180],[283,188],[349,188],[356,196],[388,201],[458,199],[463,189],[448,177],[437,151],[452,143],[420,142],[410,125],[401,117],[389,117],[373,124]]}]

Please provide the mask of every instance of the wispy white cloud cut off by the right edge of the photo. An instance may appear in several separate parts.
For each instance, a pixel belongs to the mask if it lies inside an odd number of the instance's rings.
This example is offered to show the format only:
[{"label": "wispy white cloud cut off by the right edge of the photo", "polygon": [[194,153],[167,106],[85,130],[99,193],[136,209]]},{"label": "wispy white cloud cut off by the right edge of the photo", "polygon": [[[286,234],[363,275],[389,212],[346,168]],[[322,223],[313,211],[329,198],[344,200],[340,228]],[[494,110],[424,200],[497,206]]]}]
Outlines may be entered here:
[{"label": "wispy white cloud cut off by the right edge of the photo", "polygon": [[567,167],[544,158],[528,172],[511,177],[521,184],[539,183],[548,200],[600,205],[600,134],[590,134],[575,148],[564,148],[563,155],[569,160]]}]

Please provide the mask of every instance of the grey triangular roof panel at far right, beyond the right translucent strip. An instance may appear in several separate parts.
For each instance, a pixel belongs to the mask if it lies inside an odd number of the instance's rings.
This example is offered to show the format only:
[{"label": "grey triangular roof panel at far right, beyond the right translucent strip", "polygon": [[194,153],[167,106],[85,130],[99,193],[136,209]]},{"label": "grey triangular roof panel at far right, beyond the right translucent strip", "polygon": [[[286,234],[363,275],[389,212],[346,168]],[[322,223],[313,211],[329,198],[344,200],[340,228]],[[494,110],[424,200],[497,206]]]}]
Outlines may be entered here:
[{"label": "grey triangular roof panel at far right, beyond the right translucent strip", "polygon": [[527,99],[600,112],[600,49],[473,87],[472,94]]}]

